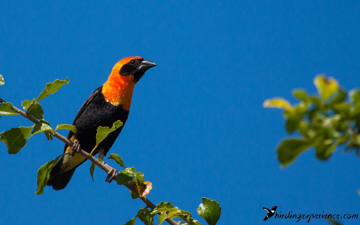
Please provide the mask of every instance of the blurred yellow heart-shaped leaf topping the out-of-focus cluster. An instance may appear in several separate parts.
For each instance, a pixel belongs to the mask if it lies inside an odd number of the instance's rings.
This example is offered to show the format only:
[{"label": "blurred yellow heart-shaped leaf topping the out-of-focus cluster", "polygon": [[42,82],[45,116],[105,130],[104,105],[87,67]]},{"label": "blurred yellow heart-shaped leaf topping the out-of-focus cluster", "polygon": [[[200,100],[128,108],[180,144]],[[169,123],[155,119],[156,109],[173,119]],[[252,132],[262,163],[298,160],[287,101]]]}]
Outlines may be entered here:
[{"label": "blurred yellow heart-shaped leaf topping the out-of-focus cluster", "polygon": [[316,76],[314,78],[314,84],[323,100],[328,99],[339,88],[337,80],[332,77],[325,77],[324,75]]}]

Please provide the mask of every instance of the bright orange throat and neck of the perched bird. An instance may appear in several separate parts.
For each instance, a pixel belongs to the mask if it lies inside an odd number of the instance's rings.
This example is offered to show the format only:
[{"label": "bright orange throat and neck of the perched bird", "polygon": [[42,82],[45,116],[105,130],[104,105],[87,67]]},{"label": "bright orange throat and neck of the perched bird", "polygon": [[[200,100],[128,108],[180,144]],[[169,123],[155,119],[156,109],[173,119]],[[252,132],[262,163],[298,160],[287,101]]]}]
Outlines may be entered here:
[{"label": "bright orange throat and neck of the perched bird", "polygon": [[130,110],[132,92],[134,91],[134,76],[121,76],[113,74],[103,85],[102,93],[105,99],[113,105],[122,105],[127,111]]}]

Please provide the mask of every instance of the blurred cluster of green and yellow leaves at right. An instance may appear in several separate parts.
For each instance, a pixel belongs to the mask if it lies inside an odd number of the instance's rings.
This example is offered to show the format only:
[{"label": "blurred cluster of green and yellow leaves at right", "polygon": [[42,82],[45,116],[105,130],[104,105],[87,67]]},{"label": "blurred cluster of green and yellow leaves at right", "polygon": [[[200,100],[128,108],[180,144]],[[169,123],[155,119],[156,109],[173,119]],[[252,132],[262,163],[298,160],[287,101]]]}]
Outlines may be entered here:
[{"label": "blurred cluster of green and yellow leaves at right", "polygon": [[314,147],[316,157],[326,161],[339,147],[345,151],[360,149],[360,91],[348,93],[339,87],[334,78],[318,75],[314,78],[318,94],[309,95],[296,89],[293,95],[299,100],[291,105],[283,98],[267,99],[264,107],[283,109],[288,134],[300,137],[283,140],[278,148],[281,166],[288,166],[305,150]]}]

